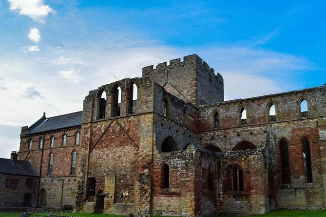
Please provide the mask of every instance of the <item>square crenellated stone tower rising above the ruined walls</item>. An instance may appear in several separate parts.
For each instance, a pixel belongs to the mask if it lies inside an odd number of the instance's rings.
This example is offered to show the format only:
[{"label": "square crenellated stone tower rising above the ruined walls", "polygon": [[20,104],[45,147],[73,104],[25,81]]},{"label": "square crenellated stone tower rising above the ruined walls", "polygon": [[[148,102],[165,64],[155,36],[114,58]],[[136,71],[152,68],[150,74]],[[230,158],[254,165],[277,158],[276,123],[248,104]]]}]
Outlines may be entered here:
[{"label": "square crenellated stone tower rising above the ruined walls", "polygon": [[148,77],[185,102],[204,105],[224,101],[224,82],[221,74],[196,54],[159,63],[156,68],[143,68],[142,77]]}]

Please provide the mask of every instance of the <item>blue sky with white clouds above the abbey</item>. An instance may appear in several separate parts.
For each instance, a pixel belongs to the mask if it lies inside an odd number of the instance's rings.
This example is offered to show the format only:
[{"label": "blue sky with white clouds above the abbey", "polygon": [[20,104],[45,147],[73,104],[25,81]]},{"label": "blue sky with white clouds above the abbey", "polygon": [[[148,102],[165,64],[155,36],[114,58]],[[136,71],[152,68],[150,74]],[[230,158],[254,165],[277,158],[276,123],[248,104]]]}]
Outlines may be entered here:
[{"label": "blue sky with white clouds above the abbey", "polygon": [[226,100],[326,83],[323,0],[0,0],[0,157],[89,90],[198,54]]}]

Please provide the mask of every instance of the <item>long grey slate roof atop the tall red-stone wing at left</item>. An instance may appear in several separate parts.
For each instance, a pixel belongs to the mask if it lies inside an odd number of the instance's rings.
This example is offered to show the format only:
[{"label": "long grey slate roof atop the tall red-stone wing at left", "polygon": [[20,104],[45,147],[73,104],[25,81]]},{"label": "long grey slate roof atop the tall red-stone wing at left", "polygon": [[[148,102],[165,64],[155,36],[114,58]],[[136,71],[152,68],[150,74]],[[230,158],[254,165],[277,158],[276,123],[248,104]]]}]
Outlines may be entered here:
[{"label": "long grey slate roof atop the tall red-stone wing at left", "polygon": [[45,115],[43,115],[43,117],[41,117],[31,127],[28,127],[27,134],[46,132],[67,127],[81,126],[82,115],[82,111],[77,111],[70,114],[63,114],[50,118],[47,118],[45,117]]}]

